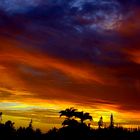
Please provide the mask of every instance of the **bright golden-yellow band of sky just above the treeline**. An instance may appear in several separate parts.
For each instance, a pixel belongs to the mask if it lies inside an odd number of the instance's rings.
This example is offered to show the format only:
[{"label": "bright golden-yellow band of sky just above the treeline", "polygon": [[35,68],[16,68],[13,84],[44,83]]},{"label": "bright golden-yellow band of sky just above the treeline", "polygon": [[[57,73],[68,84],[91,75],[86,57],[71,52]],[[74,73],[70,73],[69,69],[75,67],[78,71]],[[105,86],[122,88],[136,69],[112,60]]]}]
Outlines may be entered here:
[{"label": "bright golden-yellow band of sky just above the treeline", "polygon": [[[35,104],[32,102],[35,102]],[[62,121],[65,117],[60,118],[59,111],[75,107],[79,111],[90,113],[93,117],[93,121],[90,122],[93,128],[98,127],[101,116],[103,117],[104,127],[109,126],[111,114],[114,116],[115,126],[126,128],[139,128],[140,126],[140,121],[138,121],[140,114],[138,112],[119,112],[117,106],[113,105],[96,106],[96,109],[94,109],[70,102],[51,101],[49,103],[50,101],[47,100],[37,101],[36,99],[32,102],[1,102],[0,106],[3,107],[1,110],[3,112],[2,123],[12,120],[17,128],[19,126],[27,127],[32,119],[34,129],[40,128],[43,132],[46,132],[53,127],[62,127]]]}]

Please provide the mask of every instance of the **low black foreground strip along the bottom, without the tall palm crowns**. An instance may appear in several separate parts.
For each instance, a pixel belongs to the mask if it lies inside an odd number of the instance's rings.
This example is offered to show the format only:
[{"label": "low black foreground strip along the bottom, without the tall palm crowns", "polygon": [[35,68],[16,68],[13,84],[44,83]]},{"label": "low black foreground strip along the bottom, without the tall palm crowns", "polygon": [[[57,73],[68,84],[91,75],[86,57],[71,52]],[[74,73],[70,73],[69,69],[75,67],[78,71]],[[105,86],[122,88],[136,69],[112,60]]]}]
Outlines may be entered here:
[{"label": "low black foreground strip along the bottom, without the tall palm crowns", "polygon": [[47,133],[34,130],[29,124],[27,128],[14,128],[11,121],[0,124],[1,140],[140,140],[140,130],[123,128],[92,129],[86,124],[53,128]]}]

